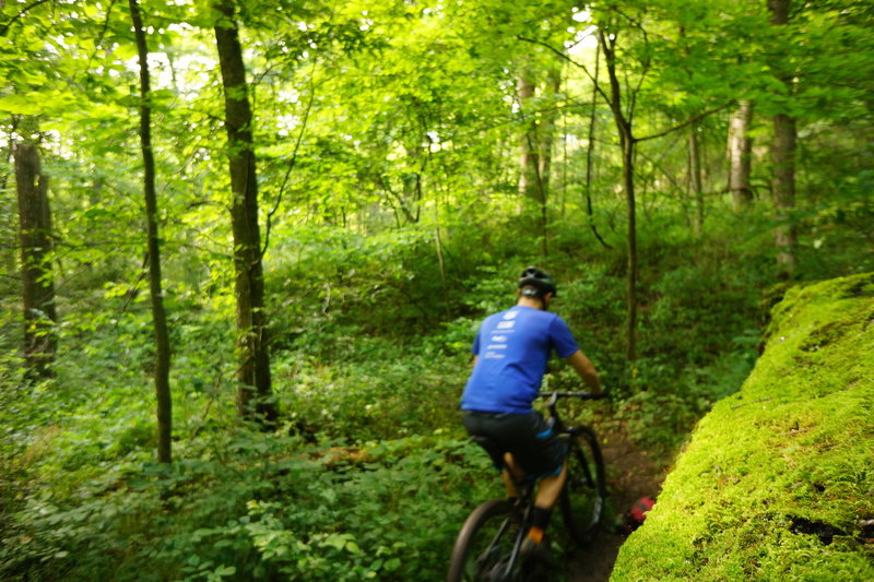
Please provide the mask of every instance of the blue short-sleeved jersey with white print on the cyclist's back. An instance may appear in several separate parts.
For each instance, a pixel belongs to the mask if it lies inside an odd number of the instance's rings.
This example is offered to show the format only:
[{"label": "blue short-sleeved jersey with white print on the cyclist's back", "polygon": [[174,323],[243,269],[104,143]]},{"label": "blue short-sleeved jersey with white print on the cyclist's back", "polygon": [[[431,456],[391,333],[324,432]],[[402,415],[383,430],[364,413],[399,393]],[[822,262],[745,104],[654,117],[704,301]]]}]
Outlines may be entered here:
[{"label": "blue short-sleeved jersey with white print on the cyclist's back", "polygon": [[548,311],[516,306],[483,321],[473,354],[479,356],[461,408],[529,413],[555,349],[566,358],[579,347],[567,323]]}]

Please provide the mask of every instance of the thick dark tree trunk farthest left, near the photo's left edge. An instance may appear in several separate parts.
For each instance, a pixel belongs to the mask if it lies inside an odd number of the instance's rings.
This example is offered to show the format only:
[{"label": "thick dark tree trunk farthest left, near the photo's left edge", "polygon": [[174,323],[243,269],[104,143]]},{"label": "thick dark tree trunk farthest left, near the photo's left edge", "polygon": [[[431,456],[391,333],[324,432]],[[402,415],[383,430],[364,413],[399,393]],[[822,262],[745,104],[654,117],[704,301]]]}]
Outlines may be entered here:
[{"label": "thick dark tree trunk farthest left, near the photo's left edge", "polygon": [[14,149],[19,194],[19,224],[24,306],[24,359],[27,379],[52,376],[58,347],[55,326],[55,284],[51,274],[54,245],[48,179],[42,174],[39,153],[28,143]]}]

